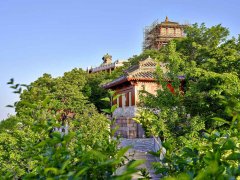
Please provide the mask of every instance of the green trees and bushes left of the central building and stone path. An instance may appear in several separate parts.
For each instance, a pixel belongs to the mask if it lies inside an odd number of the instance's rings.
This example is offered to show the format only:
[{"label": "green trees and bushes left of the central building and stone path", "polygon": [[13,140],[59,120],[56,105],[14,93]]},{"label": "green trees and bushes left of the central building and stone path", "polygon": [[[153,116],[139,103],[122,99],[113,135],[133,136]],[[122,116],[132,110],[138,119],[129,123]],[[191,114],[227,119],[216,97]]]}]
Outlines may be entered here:
[{"label": "green trees and bushes left of the central building and stone path", "polygon": [[131,178],[140,162],[115,174],[128,148],[118,149],[109,120],[84,96],[87,83],[81,69],[29,86],[9,82],[15,93],[27,88],[17,115],[0,124],[1,179]]}]

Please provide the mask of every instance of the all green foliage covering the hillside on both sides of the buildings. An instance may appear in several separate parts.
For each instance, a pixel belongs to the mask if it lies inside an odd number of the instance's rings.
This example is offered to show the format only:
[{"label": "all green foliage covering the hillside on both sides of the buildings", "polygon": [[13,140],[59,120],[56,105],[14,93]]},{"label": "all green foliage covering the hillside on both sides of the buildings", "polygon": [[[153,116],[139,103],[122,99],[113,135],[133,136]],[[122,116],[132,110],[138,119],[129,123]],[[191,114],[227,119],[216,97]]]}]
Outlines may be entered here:
[{"label": "all green foliage covering the hillside on both sides of the buildings", "polygon": [[156,172],[167,179],[239,177],[240,37],[228,34],[221,25],[194,24],[186,37],[133,56],[112,74],[73,69],[58,78],[44,74],[29,86],[12,79],[20,101],[16,116],[0,123],[1,178],[130,179],[140,162],[115,174],[127,148],[117,148],[109,120],[99,113],[114,110],[109,99],[101,101],[108,96],[101,85],[149,56],[168,69],[157,68],[162,89],[142,92],[136,117],[167,150]]}]

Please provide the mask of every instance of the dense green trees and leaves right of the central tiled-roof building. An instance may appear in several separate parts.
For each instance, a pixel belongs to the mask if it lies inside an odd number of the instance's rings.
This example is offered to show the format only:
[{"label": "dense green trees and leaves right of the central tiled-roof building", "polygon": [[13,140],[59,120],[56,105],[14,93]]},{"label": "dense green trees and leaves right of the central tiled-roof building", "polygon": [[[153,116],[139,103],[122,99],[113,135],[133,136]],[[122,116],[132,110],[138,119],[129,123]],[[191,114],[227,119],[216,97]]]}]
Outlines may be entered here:
[{"label": "dense green trees and leaves right of the central tiled-roof building", "polygon": [[162,89],[156,96],[143,92],[136,121],[167,149],[155,164],[158,173],[177,179],[240,176],[240,38],[228,34],[221,25],[194,24],[185,38],[153,52],[169,71],[158,68]]}]

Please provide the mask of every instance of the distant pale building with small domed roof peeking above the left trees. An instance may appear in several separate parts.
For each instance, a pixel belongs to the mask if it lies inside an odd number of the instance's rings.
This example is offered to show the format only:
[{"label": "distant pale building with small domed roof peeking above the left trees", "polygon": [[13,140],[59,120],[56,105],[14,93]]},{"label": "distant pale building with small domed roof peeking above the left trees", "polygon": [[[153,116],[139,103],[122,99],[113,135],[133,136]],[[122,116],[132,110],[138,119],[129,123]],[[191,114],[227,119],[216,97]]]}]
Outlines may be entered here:
[{"label": "distant pale building with small domed roof peeking above the left trees", "polygon": [[100,66],[87,68],[87,72],[97,73],[97,72],[106,71],[111,73],[114,69],[123,66],[123,62],[124,62],[120,60],[112,62],[112,56],[109,54],[104,55],[102,60],[103,60],[103,63]]}]

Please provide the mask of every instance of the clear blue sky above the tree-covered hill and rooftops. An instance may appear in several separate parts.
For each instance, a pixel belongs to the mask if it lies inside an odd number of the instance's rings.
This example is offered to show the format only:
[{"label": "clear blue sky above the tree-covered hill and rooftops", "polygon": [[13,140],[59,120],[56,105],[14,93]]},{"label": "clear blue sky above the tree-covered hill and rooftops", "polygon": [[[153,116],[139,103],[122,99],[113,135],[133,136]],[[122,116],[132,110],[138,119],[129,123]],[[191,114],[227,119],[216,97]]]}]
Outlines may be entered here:
[{"label": "clear blue sky above the tree-covered hill and rooftops", "polygon": [[156,19],[222,24],[240,33],[239,0],[1,0],[0,120],[18,97],[6,82],[27,83],[43,73],[61,76],[99,65],[105,53],[141,53],[143,28]]}]

